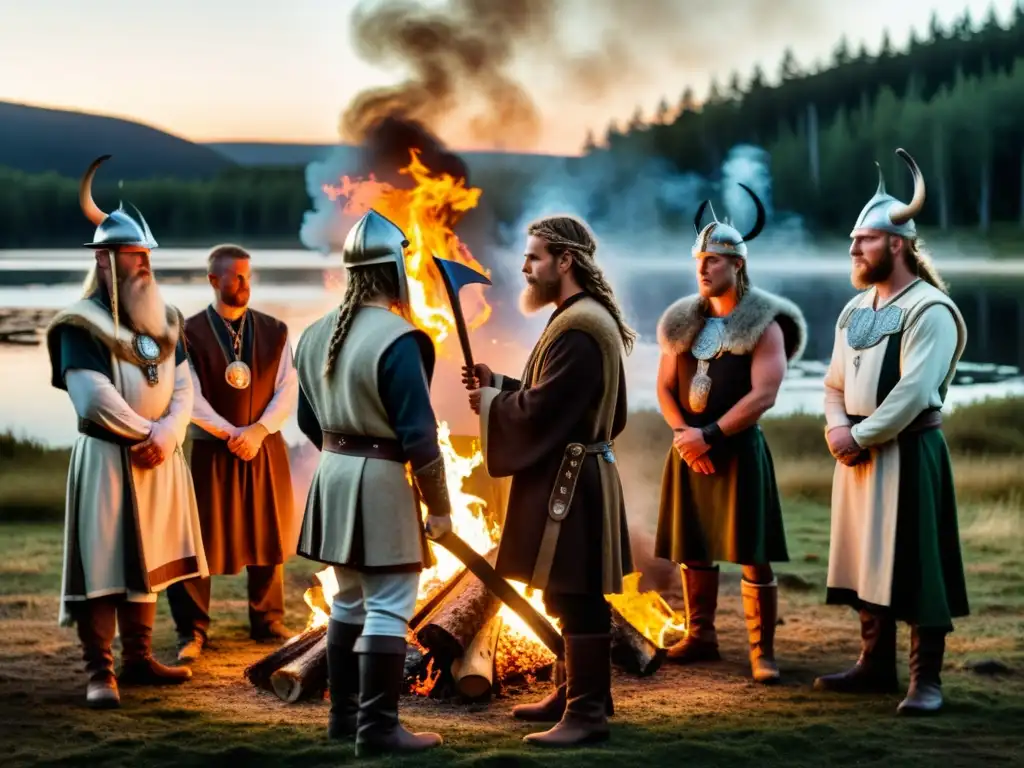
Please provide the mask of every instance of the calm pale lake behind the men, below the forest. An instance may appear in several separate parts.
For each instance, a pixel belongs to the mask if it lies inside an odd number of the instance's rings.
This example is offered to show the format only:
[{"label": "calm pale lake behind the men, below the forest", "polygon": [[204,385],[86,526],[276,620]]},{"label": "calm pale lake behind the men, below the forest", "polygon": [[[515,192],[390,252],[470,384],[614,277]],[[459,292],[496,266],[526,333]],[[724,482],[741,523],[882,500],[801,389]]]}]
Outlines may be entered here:
[{"label": "calm pale lake behind the men, below the forest", "polygon": [[[284,321],[292,344],[302,331],[337,304],[342,295],[340,256],[306,251],[253,250],[255,275],[252,305]],[[187,316],[211,300],[205,278],[205,250],[161,249],[155,268],[164,296]],[[91,253],[67,251],[0,251],[0,309],[58,309],[81,295]],[[753,261],[753,260],[752,260]],[[499,371],[518,374],[547,312],[523,318],[516,308],[521,281],[517,256],[493,275],[484,290],[489,319],[473,332],[477,360]],[[490,268],[495,266],[485,264]],[[990,396],[1024,393],[1024,260],[942,259],[936,265],[950,284],[951,295],[968,323],[969,341],[950,407]],[[641,342],[628,358],[631,407],[657,407],[654,382],[657,348],[654,329],[662,311],[694,290],[693,262],[687,258],[615,258],[605,266]],[[777,292],[805,312],[810,337],[805,359],[791,370],[774,413],[821,412],[821,375],[831,352],[833,330],[843,305],[853,296],[849,262],[794,257],[751,263],[755,285]],[[458,434],[477,427],[459,382],[462,365],[458,341],[447,340],[433,387],[439,420]],[[0,344],[0,431],[12,430],[53,445],[76,436],[75,415],[66,393],[49,385],[45,346]],[[294,418],[286,426],[290,441],[304,439]]]}]

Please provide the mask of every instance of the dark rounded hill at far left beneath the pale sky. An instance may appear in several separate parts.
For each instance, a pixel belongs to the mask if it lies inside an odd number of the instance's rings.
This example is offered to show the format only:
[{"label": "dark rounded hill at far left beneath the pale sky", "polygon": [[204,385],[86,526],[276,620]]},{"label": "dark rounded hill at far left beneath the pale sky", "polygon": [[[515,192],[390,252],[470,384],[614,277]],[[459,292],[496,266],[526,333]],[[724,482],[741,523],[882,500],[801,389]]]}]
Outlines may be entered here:
[{"label": "dark rounded hill at far left beneath the pale sky", "polygon": [[236,164],[209,146],[119,118],[0,101],[0,167],[78,178],[99,155],[120,179],[201,179]]}]

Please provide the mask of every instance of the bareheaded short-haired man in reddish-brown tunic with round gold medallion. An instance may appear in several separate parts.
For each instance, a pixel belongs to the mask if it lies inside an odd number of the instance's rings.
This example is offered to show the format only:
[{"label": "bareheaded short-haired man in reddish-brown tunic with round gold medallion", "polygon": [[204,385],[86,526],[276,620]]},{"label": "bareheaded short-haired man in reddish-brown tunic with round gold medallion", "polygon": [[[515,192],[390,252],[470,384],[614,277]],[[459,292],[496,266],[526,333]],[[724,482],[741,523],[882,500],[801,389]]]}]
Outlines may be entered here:
[{"label": "bareheaded short-haired man in reddish-brown tunic with round gold medallion", "polygon": [[[248,251],[217,246],[207,267],[214,301],[185,321],[196,393],[189,463],[203,544],[211,574],[246,568],[250,636],[287,640],[284,563],[298,536],[281,434],[298,399],[288,327],[249,306]],[[211,586],[199,579],[167,591],[180,660],[198,658],[206,645]]]}]

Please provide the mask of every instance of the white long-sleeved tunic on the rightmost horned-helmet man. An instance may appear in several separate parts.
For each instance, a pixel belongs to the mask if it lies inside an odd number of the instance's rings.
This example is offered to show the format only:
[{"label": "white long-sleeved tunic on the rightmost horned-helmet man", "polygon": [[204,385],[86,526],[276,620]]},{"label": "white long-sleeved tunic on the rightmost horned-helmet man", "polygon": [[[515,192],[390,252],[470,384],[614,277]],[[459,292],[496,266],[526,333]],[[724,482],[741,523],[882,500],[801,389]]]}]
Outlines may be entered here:
[{"label": "white long-sleeved tunic on the rightmost horned-helmet man", "polygon": [[[870,459],[857,466],[836,464],[827,587],[852,590],[865,602],[888,606],[899,502],[896,438],[922,412],[942,407],[967,329],[952,300],[922,280],[876,302],[872,288],[847,304],[836,325],[824,379],[826,429],[850,425],[848,416],[866,417],[852,434],[870,451]],[[868,314],[872,307],[873,317]],[[901,330],[900,379],[879,402],[886,349]]]}]

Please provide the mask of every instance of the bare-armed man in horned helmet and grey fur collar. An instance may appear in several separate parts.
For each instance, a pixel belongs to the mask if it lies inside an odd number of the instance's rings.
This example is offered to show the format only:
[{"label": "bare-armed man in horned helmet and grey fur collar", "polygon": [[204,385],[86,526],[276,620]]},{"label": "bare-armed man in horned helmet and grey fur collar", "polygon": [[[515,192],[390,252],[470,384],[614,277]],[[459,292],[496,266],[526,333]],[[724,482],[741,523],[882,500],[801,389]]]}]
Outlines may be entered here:
[{"label": "bare-armed man in horned helmet and grey fur collar", "polygon": [[764,207],[745,236],[714,216],[693,222],[698,292],[657,325],[658,402],[673,431],[665,463],[654,554],[680,564],[686,637],[670,660],[717,660],[719,561],[742,566],[740,593],[751,673],[779,679],[775,662],[778,583],[772,562],[788,560],[771,452],[759,422],[774,406],[786,367],[804,349],[800,308],[750,285],[746,244],[764,226]]}]

